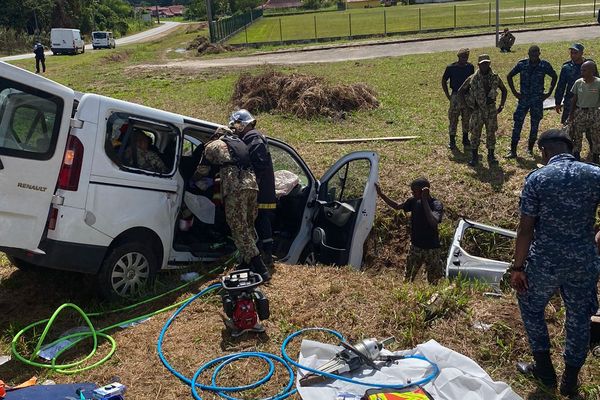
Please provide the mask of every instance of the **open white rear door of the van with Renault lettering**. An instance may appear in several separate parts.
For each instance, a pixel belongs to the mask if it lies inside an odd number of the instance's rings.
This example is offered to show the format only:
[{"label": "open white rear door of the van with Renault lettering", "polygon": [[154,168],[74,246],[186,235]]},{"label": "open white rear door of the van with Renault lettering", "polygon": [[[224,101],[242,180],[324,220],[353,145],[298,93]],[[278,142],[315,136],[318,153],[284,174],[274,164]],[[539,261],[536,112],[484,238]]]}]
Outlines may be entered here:
[{"label": "open white rear door of the van with Renault lettering", "polygon": [[0,62],[0,247],[38,248],[74,97],[67,87]]}]

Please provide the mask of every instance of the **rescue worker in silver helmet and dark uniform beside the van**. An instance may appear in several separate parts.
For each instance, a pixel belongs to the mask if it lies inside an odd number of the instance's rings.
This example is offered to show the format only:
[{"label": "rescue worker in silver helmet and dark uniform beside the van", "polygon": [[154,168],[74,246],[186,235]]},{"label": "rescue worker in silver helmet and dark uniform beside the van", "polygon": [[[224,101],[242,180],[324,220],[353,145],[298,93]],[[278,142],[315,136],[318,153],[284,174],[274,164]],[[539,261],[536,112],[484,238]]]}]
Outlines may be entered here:
[{"label": "rescue worker in silver helmet and dark uniform beside the van", "polygon": [[256,119],[241,109],[234,111],[229,118],[229,128],[248,146],[252,169],[258,183],[258,215],[256,233],[258,249],[267,267],[273,266],[273,228],[277,198],[275,197],[275,173],[267,138],[257,129]]}]

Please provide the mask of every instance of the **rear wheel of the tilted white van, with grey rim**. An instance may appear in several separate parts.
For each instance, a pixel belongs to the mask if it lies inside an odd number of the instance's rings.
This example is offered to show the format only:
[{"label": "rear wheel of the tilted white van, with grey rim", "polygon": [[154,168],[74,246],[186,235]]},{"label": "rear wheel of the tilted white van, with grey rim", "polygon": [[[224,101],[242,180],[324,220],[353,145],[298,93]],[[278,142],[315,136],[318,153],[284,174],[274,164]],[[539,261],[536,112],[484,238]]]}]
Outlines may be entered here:
[{"label": "rear wheel of the tilted white van, with grey rim", "polygon": [[106,299],[131,299],[147,290],[158,272],[152,249],[140,242],[111,249],[98,273],[100,294]]}]

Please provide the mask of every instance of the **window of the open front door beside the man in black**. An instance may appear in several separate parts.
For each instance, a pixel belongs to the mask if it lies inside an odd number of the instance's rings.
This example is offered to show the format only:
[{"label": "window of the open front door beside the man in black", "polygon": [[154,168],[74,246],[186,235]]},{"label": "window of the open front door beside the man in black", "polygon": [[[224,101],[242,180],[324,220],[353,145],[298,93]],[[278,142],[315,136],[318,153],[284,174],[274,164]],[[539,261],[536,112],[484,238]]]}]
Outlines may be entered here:
[{"label": "window of the open front door beside the man in black", "polygon": [[371,173],[368,159],[352,160],[342,166],[321,189],[327,202],[355,203],[362,199]]}]

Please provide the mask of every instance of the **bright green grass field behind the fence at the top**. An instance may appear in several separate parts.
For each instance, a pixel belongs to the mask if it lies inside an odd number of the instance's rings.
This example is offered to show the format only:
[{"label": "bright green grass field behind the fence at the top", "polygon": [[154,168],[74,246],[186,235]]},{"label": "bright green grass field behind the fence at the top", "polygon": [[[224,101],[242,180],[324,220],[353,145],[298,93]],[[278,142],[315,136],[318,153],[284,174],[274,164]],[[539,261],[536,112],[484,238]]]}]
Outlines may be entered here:
[{"label": "bright green grass field behind the fence at the top", "polygon": [[[560,20],[594,21],[596,3],[583,0],[503,0],[500,23],[514,26]],[[559,11],[560,4],[560,11]],[[376,35],[493,25],[495,2],[481,0],[444,4],[354,9],[317,14],[263,17],[230,43],[277,42],[327,37]],[[281,30],[280,30],[281,25]]]}]

